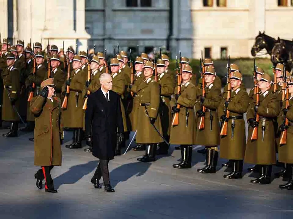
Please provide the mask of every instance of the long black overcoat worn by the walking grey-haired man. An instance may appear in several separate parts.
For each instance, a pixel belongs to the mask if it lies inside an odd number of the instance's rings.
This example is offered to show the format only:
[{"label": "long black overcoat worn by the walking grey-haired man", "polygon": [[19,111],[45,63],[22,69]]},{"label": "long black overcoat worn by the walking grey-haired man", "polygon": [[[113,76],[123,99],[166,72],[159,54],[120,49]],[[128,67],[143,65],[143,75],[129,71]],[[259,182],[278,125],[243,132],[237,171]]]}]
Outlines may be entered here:
[{"label": "long black overcoat worn by the walking grey-haired man", "polygon": [[107,102],[98,89],[88,97],[85,127],[86,135],[92,136],[93,156],[99,159],[113,159],[117,142],[117,131],[123,132],[120,96],[109,91]]}]

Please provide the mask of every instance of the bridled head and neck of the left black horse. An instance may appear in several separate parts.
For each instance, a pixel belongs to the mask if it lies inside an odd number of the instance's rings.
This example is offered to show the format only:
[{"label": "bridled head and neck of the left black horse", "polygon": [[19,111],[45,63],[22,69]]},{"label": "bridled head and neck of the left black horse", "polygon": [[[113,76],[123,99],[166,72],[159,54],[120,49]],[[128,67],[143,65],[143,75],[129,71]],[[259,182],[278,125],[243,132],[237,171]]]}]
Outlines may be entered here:
[{"label": "bridled head and neck of the left black horse", "polygon": [[275,41],[275,38],[266,35],[265,32],[259,32],[259,34],[255,37],[255,42],[251,48],[251,55],[255,56],[263,49],[265,49],[269,55],[272,55],[272,48],[275,45]]}]

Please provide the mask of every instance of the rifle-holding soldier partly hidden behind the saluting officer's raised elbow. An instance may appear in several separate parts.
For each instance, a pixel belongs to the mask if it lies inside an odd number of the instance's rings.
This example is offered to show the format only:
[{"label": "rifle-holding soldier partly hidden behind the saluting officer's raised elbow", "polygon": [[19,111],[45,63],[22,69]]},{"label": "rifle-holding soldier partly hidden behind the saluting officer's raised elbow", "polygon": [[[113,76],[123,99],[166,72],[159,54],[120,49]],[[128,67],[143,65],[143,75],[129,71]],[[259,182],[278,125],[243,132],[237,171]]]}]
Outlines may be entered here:
[{"label": "rifle-holding soldier partly hidden behind the saluting officer's raised elbow", "polygon": [[[32,68],[30,74],[25,80],[25,86],[28,92],[28,96],[30,92],[33,92],[33,97],[39,95],[40,85],[42,81],[47,77],[47,68],[44,65],[44,52],[37,51],[35,54],[35,69]],[[35,72],[34,72],[35,71]],[[33,84],[35,86],[33,87]],[[30,111],[30,102],[27,103],[27,115],[26,115],[28,129],[27,131],[33,131],[35,127],[35,115]],[[33,141],[33,138],[29,140]]]}]

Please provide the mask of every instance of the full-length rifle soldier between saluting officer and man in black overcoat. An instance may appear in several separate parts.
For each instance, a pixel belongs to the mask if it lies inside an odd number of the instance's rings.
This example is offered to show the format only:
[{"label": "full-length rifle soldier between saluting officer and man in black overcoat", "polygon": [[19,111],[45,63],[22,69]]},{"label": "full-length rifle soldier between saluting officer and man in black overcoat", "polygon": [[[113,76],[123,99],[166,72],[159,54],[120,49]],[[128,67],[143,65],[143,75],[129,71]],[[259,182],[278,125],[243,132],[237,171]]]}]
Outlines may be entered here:
[{"label": "full-length rifle soldier between saluting officer and man in black overcoat", "polygon": [[[73,130],[73,142],[65,147],[70,149],[81,148],[81,134],[84,124],[84,97],[82,91],[86,84],[86,73],[81,70],[81,57],[75,55],[72,60],[72,71],[69,80],[65,81],[62,93],[68,96],[67,108],[63,109],[64,127]],[[69,93],[66,93],[69,86]]]}]

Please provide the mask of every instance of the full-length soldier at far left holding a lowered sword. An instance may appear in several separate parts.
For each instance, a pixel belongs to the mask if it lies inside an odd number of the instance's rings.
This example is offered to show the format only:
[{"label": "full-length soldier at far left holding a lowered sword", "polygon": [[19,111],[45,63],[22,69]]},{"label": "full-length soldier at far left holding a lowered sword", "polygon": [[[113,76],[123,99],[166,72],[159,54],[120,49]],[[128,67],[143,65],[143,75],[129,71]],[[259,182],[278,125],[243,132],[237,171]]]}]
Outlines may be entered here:
[{"label": "full-length soldier at far left holding a lowered sword", "polygon": [[7,68],[1,74],[4,91],[2,103],[2,120],[11,122],[8,133],[3,134],[5,137],[17,137],[19,116],[19,70],[14,66],[15,55],[8,53],[6,57]]}]

